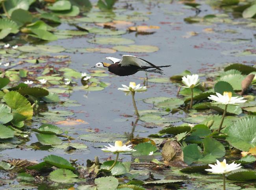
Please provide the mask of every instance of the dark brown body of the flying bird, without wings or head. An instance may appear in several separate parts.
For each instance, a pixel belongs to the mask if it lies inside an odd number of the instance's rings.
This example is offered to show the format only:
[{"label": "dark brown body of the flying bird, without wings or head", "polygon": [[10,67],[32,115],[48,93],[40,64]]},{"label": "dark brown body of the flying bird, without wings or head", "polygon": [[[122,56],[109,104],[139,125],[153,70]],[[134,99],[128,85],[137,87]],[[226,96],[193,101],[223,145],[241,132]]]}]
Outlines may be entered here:
[{"label": "dark brown body of the flying bird, without wings or head", "polygon": [[138,66],[130,65],[130,66],[121,66],[119,62],[111,64],[108,66],[108,71],[119,76],[128,76],[134,75],[141,69]]}]

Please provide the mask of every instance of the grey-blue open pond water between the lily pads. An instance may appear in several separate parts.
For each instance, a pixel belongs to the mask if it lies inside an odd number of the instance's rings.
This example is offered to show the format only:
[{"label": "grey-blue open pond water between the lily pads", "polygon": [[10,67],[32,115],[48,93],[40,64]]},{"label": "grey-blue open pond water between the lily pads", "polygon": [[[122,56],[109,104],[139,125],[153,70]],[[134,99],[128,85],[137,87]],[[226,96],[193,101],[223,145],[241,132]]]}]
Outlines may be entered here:
[{"label": "grey-blue open pond water between the lily pads", "polygon": [[[206,1],[197,1],[201,4],[201,12],[197,15],[203,17],[205,15],[221,15],[227,14],[232,18],[232,13],[225,13],[220,9],[213,9]],[[127,9],[123,7],[129,4]],[[194,24],[187,23],[184,18],[189,16],[195,16],[195,9],[185,6],[178,1],[118,1],[115,4],[116,9],[114,13],[118,13],[119,16],[123,15],[135,15],[145,16],[148,20],[132,21],[135,25],[147,25],[147,26],[159,26],[160,29],[156,29],[156,32],[148,35],[136,34],[136,32],[127,32],[121,35],[121,37],[132,39],[136,45],[150,45],[159,48],[158,51],[152,53],[127,53],[117,51],[115,53],[67,53],[61,52],[51,55],[67,55],[70,57],[68,64],[69,68],[75,69],[79,72],[89,73],[96,70],[91,69],[97,62],[106,61],[105,57],[117,57],[121,58],[122,55],[135,55],[145,60],[152,62],[158,66],[171,64],[169,68],[164,68],[165,75],[148,73],[148,79],[162,78],[177,75],[184,70],[189,70],[191,73],[198,73],[202,78],[207,78],[205,75],[210,71],[216,71],[219,67],[226,63],[239,62],[239,63],[254,63],[254,57],[251,56],[236,56],[235,53],[229,53],[232,50],[239,51],[243,49],[255,47],[255,28],[248,27],[243,24],[242,18],[232,18],[230,22],[198,22]],[[92,9],[91,12],[97,12],[97,9]],[[119,20],[119,16],[115,19]],[[223,16],[223,18],[226,18]],[[70,21],[72,22],[72,21]],[[237,23],[235,23],[237,22]],[[253,21],[252,21],[253,22]],[[248,23],[247,23],[248,24]],[[88,26],[94,26],[94,24],[88,24]],[[75,26],[71,26],[67,23],[63,23],[58,26],[61,30],[76,30]],[[126,26],[123,28],[126,29]],[[45,43],[48,46],[62,46],[65,49],[70,48],[112,48],[113,45],[100,45],[92,44],[87,40],[95,37],[101,37],[99,35],[87,34],[77,36],[68,39],[59,39],[56,41]],[[244,40],[246,39],[246,40]],[[69,58],[65,59],[69,60]],[[109,62],[108,60],[106,62]],[[49,62],[51,66],[58,66],[57,63]],[[30,69],[32,64],[23,64],[15,68]],[[42,63],[45,66],[45,63]],[[39,68],[43,69],[43,68]],[[118,133],[125,134],[131,133],[134,130],[134,137],[147,137],[150,134],[157,133],[161,126],[150,126],[143,121],[138,121],[135,128],[132,126],[132,122],[136,121],[134,114],[134,107],[132,104],[132,97],[125,96],[122,91],[117,90],[121,87],[121,84],[128,85],[129,82],[136,82],[136,84],[143,84],[146,77],[145,72],[139,71],[135,75],[127,77],[119,77],[112,75],[106,71],[105,77],[97,77],[105,83],[110,83],[110,86],[104,88],[102,91],[84,91],[77,90],[60,94],[61,100],[64,102],[69,100],[76,101],[76,104],[80,106],[67,106],[63,107],[59,104],[47,104],[40,106],[45,111],[64,110],[71,111],[74,115],[65,117],[70,120],[82,120],[76,124],[63,125],[58,122],[52,122],[52,124],[58,125],[61,129],[67,130],[69,135],[76,138],[72,140],[72,143],[83,143],[88,146],[87,149],[77,149],[74,151],[65,151],[59,148],[46,148],[45,150],[35,150],[32,146],[37,144],[38,139],[35,136],[35,132],[32,132],[30,140],[24,145],[20,145],[13,149],[4,149],[1,153],[1,160],[8,160],[12,158],[27,159],[30,161],[41,162],[43,157],[54,154],[66,158],[67,160],[78,159],[78,163],[85,164],[87,159],[94,159],[95,155],[98,155],[100,161],[106,160],[111,153],[103,153],[100,148],[106,143],[89,142],[79,139],[79,135],[96,133]],[[78,86],[81,86],[80,79],[72,79],[73,82],[77,82]],[[58,88],[58,86],[54,86]],[[147,104],[143,102],[143,99],[150,97],[176,97],[178,85],[175,83],[155,83],[148,82],[148,90],[143,93],[136,93],[135,98],[137,100],[137,107],[139,110],[150,110],[153,108],[153,104]],[[187,113],[180,111],[174,114],[165,115],[164,117],[171,120],[177,118],[186,117]],[[47,119],[47,116],[45,116]],[[182,124],[181,119],[174,122],[174,125]],[[40,122],[32,122],[31,127],[37,128],[40,126]],[[100,141],[101,139],[98,139]],[[131,155],[123,154],[124,161],[130,161]],[[113,159],[113,156],[112,156]],[[2,178],[6,177],[5,173],[2,173]],[[219,179],[219,178],[217,178]],[[216,179],[216,180],[217,180]],[[200,188],[198,183],[201,179],[196,180],[194,185],[188,182],[190,185],[187,189]],[[3,186],[1,189],[10,188]],[[170,187],[171,188],[171,187]],[[47,188],[50,189],[50,188]],[[54,189],[52,187],[52,189]],[[203,189],[202,187],[200,189]],[[237,188],[230,188],[237,189]]]}]

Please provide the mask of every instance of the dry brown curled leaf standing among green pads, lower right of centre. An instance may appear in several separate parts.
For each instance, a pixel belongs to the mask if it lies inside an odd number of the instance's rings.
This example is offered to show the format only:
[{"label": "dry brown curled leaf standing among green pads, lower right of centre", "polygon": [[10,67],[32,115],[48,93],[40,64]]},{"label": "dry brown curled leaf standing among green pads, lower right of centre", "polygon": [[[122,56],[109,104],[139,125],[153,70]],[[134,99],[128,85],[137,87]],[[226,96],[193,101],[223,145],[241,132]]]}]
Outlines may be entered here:
[{"label": "dry brown curled leaf standing among green pads, lower right of centre", "polygon": [[173,162],[181,161],[183,163],[183,152],[181,146],[176,141],[168,139],[162,149],[163,162],[167,165],[173,165]]}]

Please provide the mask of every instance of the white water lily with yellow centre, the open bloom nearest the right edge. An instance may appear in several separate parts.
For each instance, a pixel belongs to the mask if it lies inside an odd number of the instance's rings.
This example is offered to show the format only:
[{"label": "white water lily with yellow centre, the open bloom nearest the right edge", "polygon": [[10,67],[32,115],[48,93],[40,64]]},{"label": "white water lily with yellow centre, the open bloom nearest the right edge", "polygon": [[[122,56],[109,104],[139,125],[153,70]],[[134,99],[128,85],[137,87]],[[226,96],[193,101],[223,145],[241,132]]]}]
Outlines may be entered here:
[{"label": "white water lily with yellow centre, the open bloom nearest the right edge", "polygon": [[238,103],[244,103],[246,100],[243,100],[243,97],[238,98],[232,97],[232,92],[224,92],[223,95],[216,92],[216,95],[210,95],[208,99],[213,100],[215,102],[212,102],[212,104],[231,104],[231,105],[237,105]]}]

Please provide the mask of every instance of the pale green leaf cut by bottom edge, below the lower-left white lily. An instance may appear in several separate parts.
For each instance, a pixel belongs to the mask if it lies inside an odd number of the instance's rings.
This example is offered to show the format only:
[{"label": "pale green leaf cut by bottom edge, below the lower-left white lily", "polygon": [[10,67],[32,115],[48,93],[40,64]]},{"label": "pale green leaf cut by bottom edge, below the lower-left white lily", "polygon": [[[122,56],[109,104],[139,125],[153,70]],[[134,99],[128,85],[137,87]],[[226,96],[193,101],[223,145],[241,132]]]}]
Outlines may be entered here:
[{"label": "pale green leaf cut by bottom edge, below the lower-left white lily", "polygon": [[118,179],[113,176],[98,177],[94,183],[98,190],[115,190],[119,184]]}]

